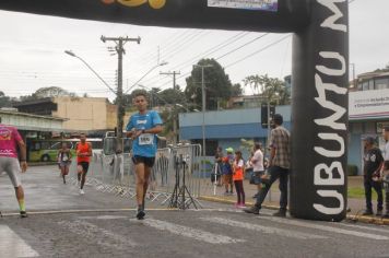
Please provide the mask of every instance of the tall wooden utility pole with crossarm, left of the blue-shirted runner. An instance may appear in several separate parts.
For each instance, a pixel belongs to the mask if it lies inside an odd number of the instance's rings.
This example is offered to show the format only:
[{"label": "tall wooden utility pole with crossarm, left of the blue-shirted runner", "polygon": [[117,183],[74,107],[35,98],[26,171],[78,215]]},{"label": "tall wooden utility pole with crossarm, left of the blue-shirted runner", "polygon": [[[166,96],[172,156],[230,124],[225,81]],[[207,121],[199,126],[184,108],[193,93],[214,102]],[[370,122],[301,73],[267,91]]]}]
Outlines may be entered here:
[{"label": "tall wooden utility pole with crossarm, left of the blue-shirted runner", "polygon": [[117,137],[117,151],[122,152],[122,127],[123,127],[123,116],[125,107],[122,104],[122,56],[126,55],[125,44],[128,42],[141,43],[141,38],[130,38],[130,37],[105,37],[102,36],[102,42],[114,42],[116,44],[116,52],[118,54],[118,89],[116,92],[117,102],[117,124],[116,124],[116,137]]}]

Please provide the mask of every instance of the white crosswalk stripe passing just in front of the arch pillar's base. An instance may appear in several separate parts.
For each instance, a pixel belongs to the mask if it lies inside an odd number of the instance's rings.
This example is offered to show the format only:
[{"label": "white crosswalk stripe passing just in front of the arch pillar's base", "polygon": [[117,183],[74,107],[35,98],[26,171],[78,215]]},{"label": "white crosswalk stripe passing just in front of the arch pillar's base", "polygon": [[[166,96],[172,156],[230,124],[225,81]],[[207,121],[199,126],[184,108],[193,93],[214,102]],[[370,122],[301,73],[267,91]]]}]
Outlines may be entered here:
[{"label": "white crosswalk stripe passing just in front of the arch pillar's base", "polygon": [[272,216],[257,216],[257,218],[260,220],[268,220],[268,221],[287,224],[287,225],[308,227],[308,228],[313,228],[313,230],[320,230],[320,231],[326,231],[326,232],[330,232],[330,233],[338,233],[338,234],[343,234],[343,235],[364,237],[364,238],[369,238],[369,239],[375,239],[375,241],[388,241],[389,239],[389,237],[387,237],[387,236],[369,234],[369,233],[358,232],[358,231],[343,230],[343,228],[330,226],[329,224],[328,225],[322,225],[322,224],[319,225],[319,224],[313,224],[313,223],[303,222],[303,221],[279,219],[279,218],[272,218]]}]

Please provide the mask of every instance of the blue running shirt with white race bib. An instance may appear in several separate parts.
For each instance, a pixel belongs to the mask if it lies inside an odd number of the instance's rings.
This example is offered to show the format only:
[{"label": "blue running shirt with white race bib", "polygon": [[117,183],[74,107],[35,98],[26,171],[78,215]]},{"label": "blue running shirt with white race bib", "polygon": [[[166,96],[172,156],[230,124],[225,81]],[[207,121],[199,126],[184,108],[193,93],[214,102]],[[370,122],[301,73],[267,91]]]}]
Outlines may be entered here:
[{"label": "blue running shirt with white race bib", "polygon": [[[162,125],[158,113],[151,110],[144,115],[135,114],[130,117],[126,130],[148,130]],[[154,157],[156,153],[156,136],[153,133],[143,133],[132,142],[132,153],[138,156]]]}]

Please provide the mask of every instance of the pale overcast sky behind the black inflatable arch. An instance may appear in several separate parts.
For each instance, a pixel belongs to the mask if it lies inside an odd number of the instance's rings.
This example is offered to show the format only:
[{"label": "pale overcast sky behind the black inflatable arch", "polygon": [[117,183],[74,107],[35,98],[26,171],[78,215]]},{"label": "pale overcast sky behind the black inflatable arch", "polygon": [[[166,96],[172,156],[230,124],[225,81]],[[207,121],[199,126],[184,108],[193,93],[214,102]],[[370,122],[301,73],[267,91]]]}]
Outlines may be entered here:
[{"label": "pale overcast sky behind the black inflatable arch", "polygon": [[[354,0],[350,5],[350,62],[357,74],[389,63],[388,10],[388,0]],[[191,66],[202,57],[219,58],[233,83],[251,74],[282,79],[292,67],[292,37],[286,34],[144,27],[4,11],[0,11],[0,91],[9,96],[60,86],[113,99],[114,94],[80,60],[63,52],[75,52],[115,87],[117,56],[110,56],[107,47],[114,45],[104,44],[102,35],[142,38],[140,45],[126,45],[125,90],[156,66],[158,48],[160,60],[168,64],[140,82],[148,87],[172,87],[172,77],[158,73],[174,70],[180,71],[177,83],[185,87]],[[274,42],[280,43],[261,51]]]}]

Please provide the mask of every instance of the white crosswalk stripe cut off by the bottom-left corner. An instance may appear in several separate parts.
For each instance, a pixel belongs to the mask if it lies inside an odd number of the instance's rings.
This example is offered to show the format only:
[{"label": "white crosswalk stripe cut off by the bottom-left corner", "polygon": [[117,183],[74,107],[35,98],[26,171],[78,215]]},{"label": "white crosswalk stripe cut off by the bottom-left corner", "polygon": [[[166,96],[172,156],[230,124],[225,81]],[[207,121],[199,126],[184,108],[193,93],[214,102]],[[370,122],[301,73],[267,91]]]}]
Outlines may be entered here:
[{"label": "white crosswalk stripe cut off by the bottom-left corner", "polygon": [[1,257],[37,257],[39,256],[30,245],[7,225],[0,225]]}]

